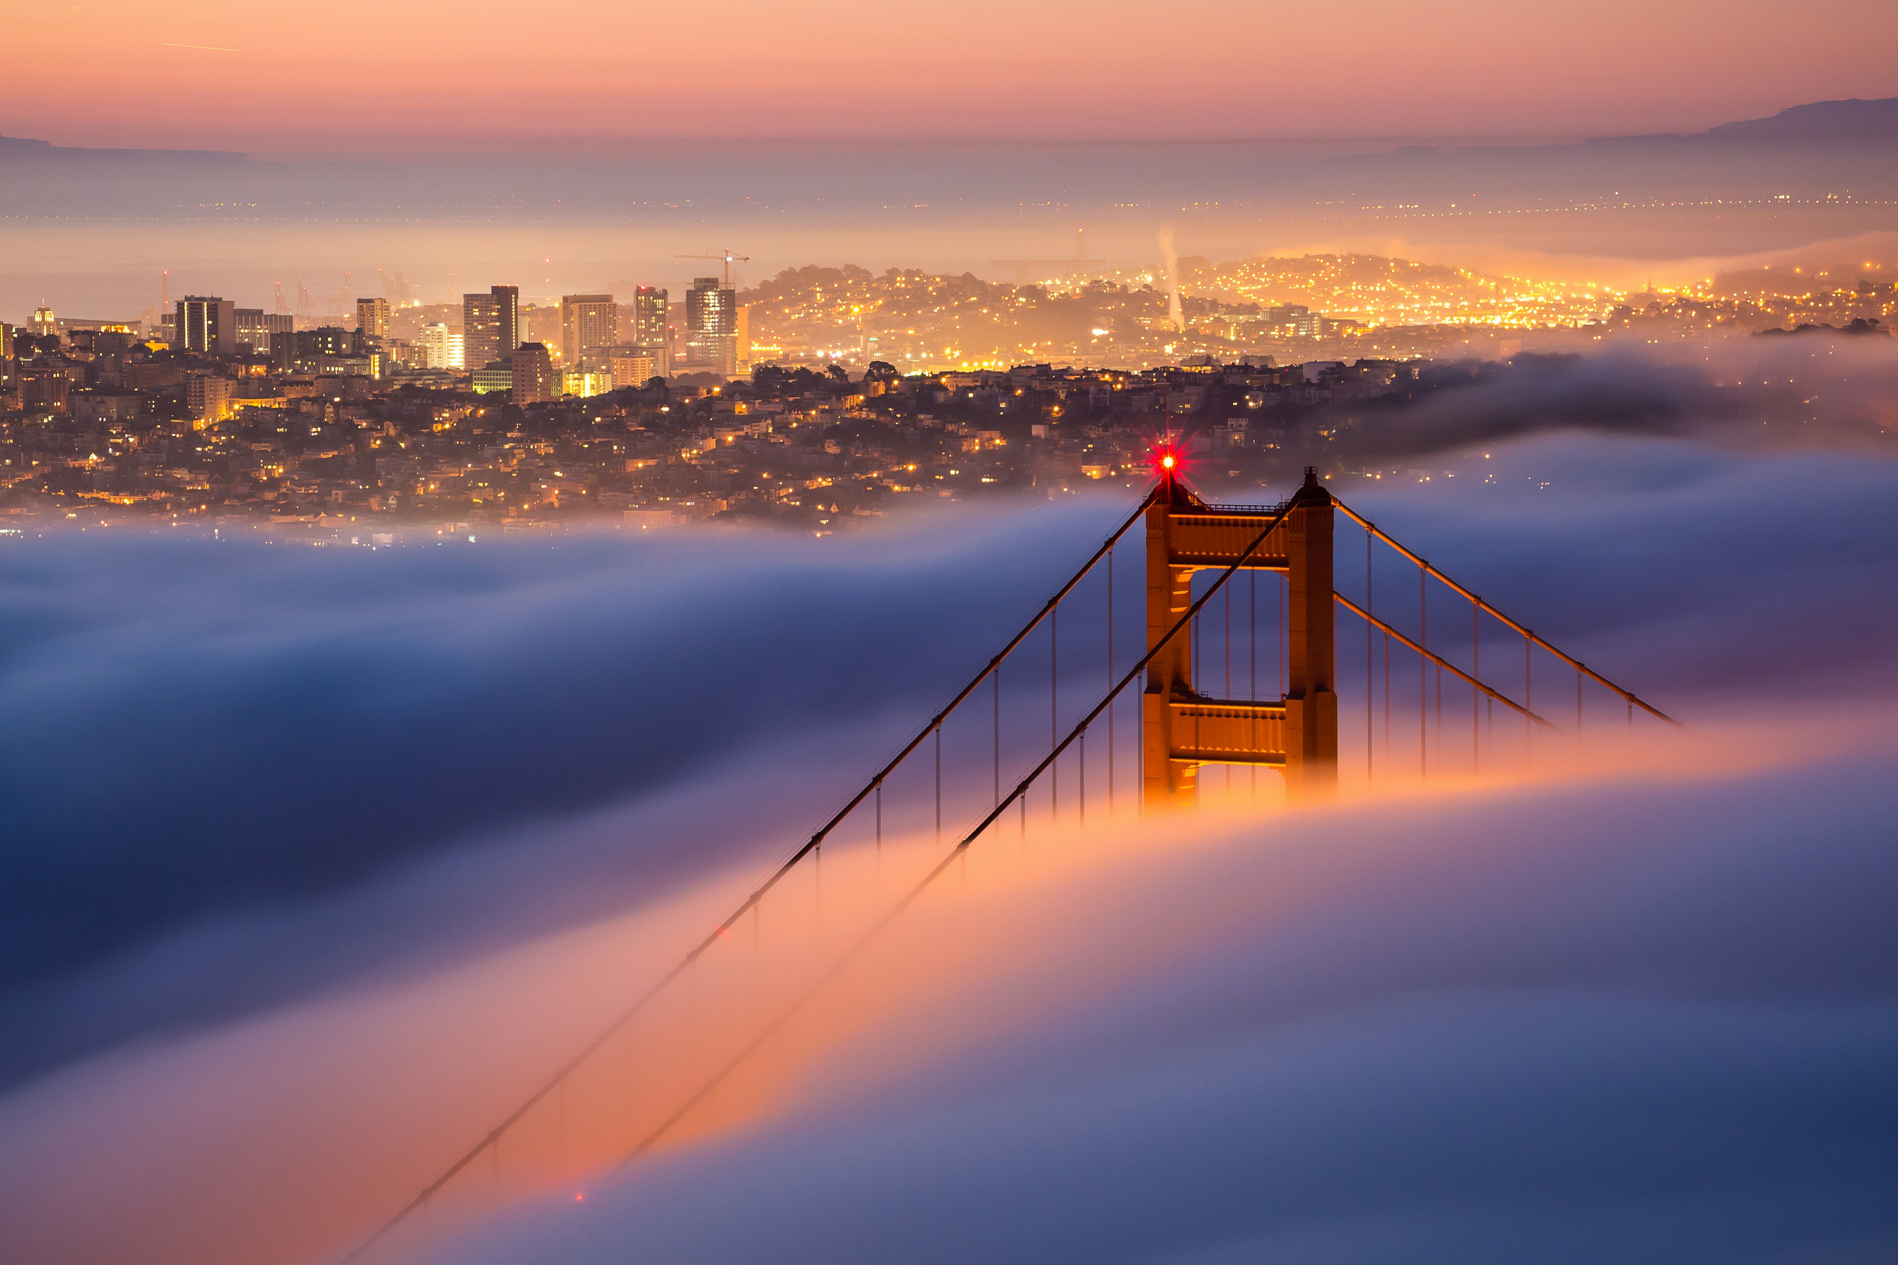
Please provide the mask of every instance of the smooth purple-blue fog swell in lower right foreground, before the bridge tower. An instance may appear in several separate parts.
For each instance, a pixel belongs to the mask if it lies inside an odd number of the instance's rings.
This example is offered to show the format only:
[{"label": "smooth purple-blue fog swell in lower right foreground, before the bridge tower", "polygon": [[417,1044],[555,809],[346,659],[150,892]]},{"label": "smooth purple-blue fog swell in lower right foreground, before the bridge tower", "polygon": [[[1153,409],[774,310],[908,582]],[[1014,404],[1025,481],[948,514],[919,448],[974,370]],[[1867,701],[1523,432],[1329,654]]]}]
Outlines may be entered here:
[{"label": "smooth purple-blue fog swell in lower right foreground, before the bridge tower", "polygon": [[1879,738],[1818,770],[1175,838],[1050,893],[1044,962],[930,1017],[1033,1022],[941,1060],[913,1041],[922,1068],[869,1102],[850,1085],[892,1047],[850,1049],[822,1109],[431,1259],[1889,1259]]}]

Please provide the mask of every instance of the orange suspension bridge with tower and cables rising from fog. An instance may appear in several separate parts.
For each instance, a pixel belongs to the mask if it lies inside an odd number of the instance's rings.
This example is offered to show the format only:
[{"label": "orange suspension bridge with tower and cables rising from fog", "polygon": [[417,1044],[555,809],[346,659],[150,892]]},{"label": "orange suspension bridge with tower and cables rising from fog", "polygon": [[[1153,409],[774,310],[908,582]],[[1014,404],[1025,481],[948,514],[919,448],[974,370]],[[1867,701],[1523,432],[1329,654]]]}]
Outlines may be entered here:
[{"label": "orange suspension bridge with tower and cables rising from fog", "polygon": [[[1365,787],[1378,778],[1526,768],[1535,759],[1537,740],[1558,740],[1564,723],[1568,740],[1579,745],[1591,706],[1596,726],[1632,730],[1638,719],[1678,724],[1395,541],[1334,497],[1315,470],[1308,468],[1304,484],[1277,504],[1211,504],[1186,486],[1179,465],[1173,449],[1156,453],[1154,487],[947,706],[568,1062],[444,1163],[342,1259],[400,1254],[406,1235],[429,1233],[421,1223],[440,1204],[457,1199],[478,1204],[495,1189],[518,1195],[558,1189],[636,1161],[687,1132],[695,1115],[716,1109],[721,1087],[740,1068],[757,1060],[803,1007],[972,850],[1010,834],[1027,846],[1031,798],[1040,819],[1046,795],[1044,821],[1050,825],[1086,827],[1091,806],[1097,817],[1129,810],[1154,817],[1156,827],[1143,829],[1158,829],[1163,814],[1207,797],[1205,766],[1228,770],[1228,795],[1232,770],[1247,770],[1253,802],[1260,768],[1281,776],[1285,802],[1323,802],[1338,793],[1346,766]],[[1114,580],[1124,571],[1116,559],[1135,527],[1144,529],[1144,637],[1135,647],[1139,652],[1116,654]],[[1342,561],[1340,527],[1353,550],[1349,565]],[[1355,577],[1353,533],[1363,539],[1363,578],[1346,594],[1340,580],[1346,571]],[[1414,575],[1414,588],[1408,582],[1393,586],[1393,565],[1401,578]],[[1239,577],[1245,577],[1243,594]],[[1260,577],[1266,577],[1268,599],[1264,624]],[[1452,620],[1442,614],[1444,599],[1460,611]],[[1063,658],[1061,611],[1069,603],[1091,603],[1105,614],[1103,662],[1078,662],[1074,652]],[[1363,694],[1361,711],[1353,706],[1342,713],[1338,611],[1363,630],[1363,671],[1351,677]],[[1046,643],[1036,635],[1044,628]],[[1520,656],[1515,643],[1520,643]],[[1237,664],[1243,698],[1234,677],[1236,649],[1243,651]],[[1399,654],[1395,668],[1393,652]],[[1414,694],[1406,660],[1414,664]],[[1004,738],[1004,673],[1017,679],[1046,673],[1048,738],[1025,761]],[[1551,673],[1556,681],[1573,677],[1572,713],[1566,685],[1553,687]],[[1217,694],[1211,692],[1215,679]],[[1560,692],[1553,696],[1551,688]],[[1076,690],[1089,702],[1076,706]],[[1012,685],[1010,702],[1017,692]],[[1063,702],[1069,704],[1065,715]],[[1412,702],[1414,732],[1408,730]],[[1340,742],[1342,723],[1361,730],[1355,734],[1363,738],[1361,747]],[[1137,738],[1124,742],[1122,726]],[[1017,736],[1014,745],[1019,745],[1021,728],[1019,717],[1012,717],[1006,732]],[[1091,757],[1089,736],[1095,738]],[[1019,768],[1008,783],[1004,762]],[[1135,766],[1131,779],[1129,762]],[[1122,791],[1129,781],[1131,795]],[[945,814],[966,825],[945,834]],[[875,861],[877,882],[862,899],[852,899],[848,910],[839,910],[837,901],[822,903],[826,848],[833,857],[845,850]],[[909,865],[892,867],[902,871],[900,882],[886,889],[884,867],[898,848],[905,850]],[[843,889],[850,891],[848,884]],[[700,1028],[716,1026],[725,1037],[721,1053],[710,1060],[695,1054],[666,1066],[655,1056],[655,1030],[664,1028],[659,1013],[668,1003],[678,1005],[681,984],[706,969],[744,969],[740,958],[761,952],[767,908],[810,901],[826,910],[826,933],[805,937],[810,943],[799,954],[801,971],[782,996],[771,998],[763,1015],[744,1013],[750,1007],[740,1005],[740,1013],[716,1022],[695,1020]],[[573,1108],[569,1094],[583,1081],[592,1089],[592,1106]],[[512,1180],[503,1174],[505,1149],[518,1153]],[[476,1185],[484,1189],[474,1191]]]}]

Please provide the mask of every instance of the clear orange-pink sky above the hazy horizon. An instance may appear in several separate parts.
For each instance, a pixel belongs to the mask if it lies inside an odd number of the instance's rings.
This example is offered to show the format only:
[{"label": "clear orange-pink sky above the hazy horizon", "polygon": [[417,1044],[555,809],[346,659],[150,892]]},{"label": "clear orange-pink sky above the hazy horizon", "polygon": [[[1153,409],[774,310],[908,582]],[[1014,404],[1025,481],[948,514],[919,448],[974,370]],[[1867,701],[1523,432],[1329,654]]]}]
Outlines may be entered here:
[{"label": "clear orange-pink sky above the hazy horizon", "polygon": [[0,133],[270,154],[651,137],[1585,137],[1887,97],[1887,0],[80,0],[9,15]]}]

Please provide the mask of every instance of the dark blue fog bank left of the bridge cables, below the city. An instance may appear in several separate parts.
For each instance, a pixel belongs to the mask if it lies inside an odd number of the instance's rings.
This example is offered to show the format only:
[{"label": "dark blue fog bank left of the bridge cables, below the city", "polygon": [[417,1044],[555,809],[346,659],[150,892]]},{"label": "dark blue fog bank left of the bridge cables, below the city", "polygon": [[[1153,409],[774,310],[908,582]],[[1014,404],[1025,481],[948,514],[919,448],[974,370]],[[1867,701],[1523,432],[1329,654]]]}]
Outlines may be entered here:
[{"label": "dark blue fog bank left of the bridge cables, below the city", "polygon": [[[47,1056],[46,1007],[74,971],[173,931],[228,939],[271,908],[294,922],[306,901],[471,846],[518,853],[562,823],[592,842],[554,855],[600,886],[566,903],[594,912],[782,846],[1040,605],[1101,520],[1070,506],[951,516],[949,537],[393,554],[74,533],[9,554],[0,1079]],[[1029,523],[1046,554],[998,535]],[[790,774],[810,742],[852,753],[848,772]],[[780,812],[668,806],[721,766],[755,772],[765,747]],[[507,926],[507,897],[456,912]],[[402,939],[376,920],[363,935]],[[279,962],[279,982],[345,969],[355,939]]]}]

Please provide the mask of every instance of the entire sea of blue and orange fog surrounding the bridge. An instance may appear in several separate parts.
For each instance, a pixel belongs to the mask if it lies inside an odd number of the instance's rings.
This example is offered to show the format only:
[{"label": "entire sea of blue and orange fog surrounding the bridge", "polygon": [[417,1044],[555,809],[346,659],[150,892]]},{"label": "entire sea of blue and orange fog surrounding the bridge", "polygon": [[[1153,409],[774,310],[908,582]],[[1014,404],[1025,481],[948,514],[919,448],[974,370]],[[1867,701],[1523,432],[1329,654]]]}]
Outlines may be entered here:
[{"label": "entire sea of blue and orange fog surrounding the bridge", "polygon": [[[1393,762],[1365,797],[1353,755],[1298,817],[1241,781],[1239,816],[1036,825],[602,1174],[733,1015],[940,855],[926,778],[892,783],[884,848],[826,848],[750,956],[708,958],[387,1259],[1889,1259],[1898,474],[1828,425],[1693,425],[1687,372],[1623,362],[1657,404],[1554,431],[1535,379],[1477,387],[1477,448],[1418,419],[1452,442],[1410,459],[1439,478],[1338,486],[1684,736],[1591,711],[1589,745],[1482,785]],[[1126,495],[826,539],[0,541],[8,1240],[334,1259],[704,935]],[[1091,618],[1061,637],[1074,709],[1105,647]],[[1342,673],[1361,647],[1346,624]],[[1048,734],[1048,660],[1023,668],[1012,766]],[[1439,755],[1463,761],[1458,715]],[[945,747],[951,823],[987,793],[977,721]]]}]

